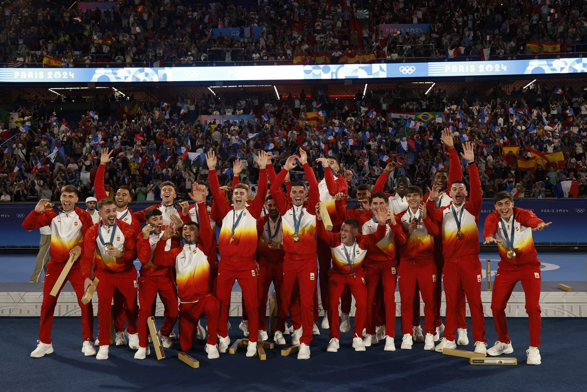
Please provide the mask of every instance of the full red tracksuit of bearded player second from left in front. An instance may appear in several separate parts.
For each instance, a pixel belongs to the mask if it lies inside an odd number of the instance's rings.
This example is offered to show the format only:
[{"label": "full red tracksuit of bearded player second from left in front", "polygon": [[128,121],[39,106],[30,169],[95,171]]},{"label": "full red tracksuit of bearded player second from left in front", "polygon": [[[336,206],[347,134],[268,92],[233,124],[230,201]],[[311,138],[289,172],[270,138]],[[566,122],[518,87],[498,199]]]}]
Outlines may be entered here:
[{"label": "full red tracksuit of bearded player second from left in front", "polygon": [[[104,226],[102,221],[90,227],[83,237],[84,247],[82,256],[83,278],[92,277],[92,266],[95,264],[95,273],[100,282],[98,292],[98,340],[100,346],[110,344],[110,317],[114,290],[118,290],[124,297],[124,308],[128,320],[127,332],[136,333],[137,325],[137,270],[134,260],[137,258],[136,233],[132,226],[116,220],[114,227]],[[102,233],[104,243],[111,242],[114,247],[124,252],[124,256],[116,258],[109,256],[104,244],[99,238]]]}]

